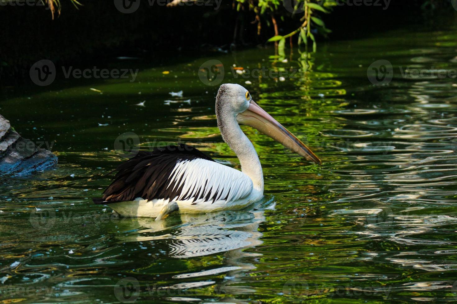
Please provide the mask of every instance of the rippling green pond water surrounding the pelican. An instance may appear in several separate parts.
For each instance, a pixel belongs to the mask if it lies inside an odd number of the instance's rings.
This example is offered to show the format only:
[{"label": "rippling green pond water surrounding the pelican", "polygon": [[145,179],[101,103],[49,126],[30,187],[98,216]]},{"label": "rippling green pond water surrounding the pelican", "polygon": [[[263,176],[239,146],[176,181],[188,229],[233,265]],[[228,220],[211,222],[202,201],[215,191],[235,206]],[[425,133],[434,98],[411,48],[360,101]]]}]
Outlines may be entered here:
[{"label": "rippling green pond water surrounding the pelican", "polygon": [[[308,62],[298,50],[274,60],[273,49],[161,67],[113,62],[140,68],[136,80],[70,78],[3,99],[0,113],[24,137],[55,141],[59,165],[0,180],[0,301],[455,302],[457,80],[432,68],[457,67],[456,38],[393,31],[321,42]],[[323,165],[243,127],[264,169],[255,209],[154,222],[94,205],[125,160],[125,132],[143,149],[186,142],[239,169],[216,126],[218,86],[198,77],[210,59],[223,62],[223,82],[248,88]],[[367,78],[379,59],[393,65],[384,86]],[[301,72],[244,79],[233,64]],[[402,77],[406,67],[425,73]],[[182,98],[169,94],[181,90]]]}]

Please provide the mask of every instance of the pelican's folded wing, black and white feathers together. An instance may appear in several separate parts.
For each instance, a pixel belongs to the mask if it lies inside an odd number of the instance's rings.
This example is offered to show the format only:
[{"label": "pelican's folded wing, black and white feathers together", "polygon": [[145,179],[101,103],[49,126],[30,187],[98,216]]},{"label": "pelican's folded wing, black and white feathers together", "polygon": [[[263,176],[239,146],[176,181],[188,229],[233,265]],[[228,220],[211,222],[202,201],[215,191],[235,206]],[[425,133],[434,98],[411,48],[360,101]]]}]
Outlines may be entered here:
[{"label": "pelican's folded wing, black and white feathers together", "polygon": [[249,196],[250,178],[218,164],[199,150],[180,144],[152,152],[141,151],[117,168],[112,184],[96,204],[146,200],[236,201]]}]

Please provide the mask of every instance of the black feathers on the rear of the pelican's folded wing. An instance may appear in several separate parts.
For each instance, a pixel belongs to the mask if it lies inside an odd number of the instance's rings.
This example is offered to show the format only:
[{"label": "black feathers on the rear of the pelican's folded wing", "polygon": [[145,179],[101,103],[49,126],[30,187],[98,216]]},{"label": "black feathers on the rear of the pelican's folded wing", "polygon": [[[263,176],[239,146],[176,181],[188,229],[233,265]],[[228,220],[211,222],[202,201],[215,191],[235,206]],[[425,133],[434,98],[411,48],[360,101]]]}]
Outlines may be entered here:
[{"label": "black feathers on the rear of the pelican's folded wing", "polygon": [[214,161],[199,150],[186,145],[167,146],[152,152],[140,151],[138,155],[117,167],[114,181],[103,192],[102,199],[94,199],[96,204],[108,204],[118,201],[143,199],[174,199],[182,191],[182,184],[175,189],[175,181],[170,183],[170,175],[176,163],[185,160],[204,159]]}]

